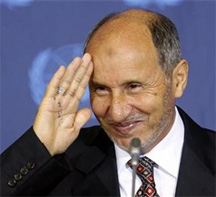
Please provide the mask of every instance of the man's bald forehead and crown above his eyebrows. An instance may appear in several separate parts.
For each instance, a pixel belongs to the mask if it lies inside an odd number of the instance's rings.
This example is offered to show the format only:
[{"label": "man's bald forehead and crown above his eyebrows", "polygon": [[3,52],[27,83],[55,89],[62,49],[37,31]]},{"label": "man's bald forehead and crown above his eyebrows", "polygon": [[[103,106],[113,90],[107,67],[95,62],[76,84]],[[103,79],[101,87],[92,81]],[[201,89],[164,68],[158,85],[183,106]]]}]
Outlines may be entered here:
[{"label": "man's bald forehead and crown above his eyebrows", "polygon": [[116,18],[101,27],[91,38],[86,52],[92,55],[95,74],[115,70],[116,66],[119,71],[132,69],[140,62],[146,65],[158,62],[147,25],[140,25],[140,17],[136,20],[132,18]]}]

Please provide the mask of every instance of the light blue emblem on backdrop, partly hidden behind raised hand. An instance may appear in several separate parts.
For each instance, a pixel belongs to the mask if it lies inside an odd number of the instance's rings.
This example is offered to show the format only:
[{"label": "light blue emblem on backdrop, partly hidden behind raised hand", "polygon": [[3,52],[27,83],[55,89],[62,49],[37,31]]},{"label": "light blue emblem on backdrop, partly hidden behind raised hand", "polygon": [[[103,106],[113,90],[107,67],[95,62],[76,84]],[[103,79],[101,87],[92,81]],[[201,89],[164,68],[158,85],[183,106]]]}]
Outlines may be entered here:
[{"label": "light blue emblem on backdrop, partly hidden behind raised hand", "polygon": [[[33,60],[29,69],[30,89],[33,100],[39,105],[48,82],[60,65],[67,66],[76,56],[82,56],[82,44],[65,45],[57,49],[41,51]],[[89,90],[82,102],[89,100]]]}]

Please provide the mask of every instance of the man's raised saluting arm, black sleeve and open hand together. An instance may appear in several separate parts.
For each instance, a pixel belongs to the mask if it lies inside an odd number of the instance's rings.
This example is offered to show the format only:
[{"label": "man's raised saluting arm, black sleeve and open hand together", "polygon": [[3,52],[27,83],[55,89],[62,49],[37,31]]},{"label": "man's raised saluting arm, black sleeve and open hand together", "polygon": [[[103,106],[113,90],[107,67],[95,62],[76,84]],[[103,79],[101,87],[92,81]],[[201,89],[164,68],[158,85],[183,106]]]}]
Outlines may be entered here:
[{"label": "man's raised saluting arm, black sleeve and open hand together", "polygon": [[54,74],[33,128],[1,156],[1,195],[46,195],[69,172],[63,153],[91,116],[78,105],[92,71],[85,54]]}]

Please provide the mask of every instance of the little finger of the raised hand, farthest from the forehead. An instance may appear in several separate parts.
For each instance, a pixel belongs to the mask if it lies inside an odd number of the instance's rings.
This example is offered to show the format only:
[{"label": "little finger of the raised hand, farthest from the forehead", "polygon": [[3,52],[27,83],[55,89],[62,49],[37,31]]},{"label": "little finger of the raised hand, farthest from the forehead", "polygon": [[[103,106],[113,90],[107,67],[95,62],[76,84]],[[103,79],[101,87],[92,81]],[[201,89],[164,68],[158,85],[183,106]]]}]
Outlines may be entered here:
[{"label": "little finger of the raised hand, farthest from the forehead", "polygon": [[62,77],[64,76],[65,71],[66,68],[64,66],[59,67],[59,69],[53,75],[52,79],[50,80],[47,86],[45,97],[52,97],[53,95],[56,95],[57,88],[59,86]]}]

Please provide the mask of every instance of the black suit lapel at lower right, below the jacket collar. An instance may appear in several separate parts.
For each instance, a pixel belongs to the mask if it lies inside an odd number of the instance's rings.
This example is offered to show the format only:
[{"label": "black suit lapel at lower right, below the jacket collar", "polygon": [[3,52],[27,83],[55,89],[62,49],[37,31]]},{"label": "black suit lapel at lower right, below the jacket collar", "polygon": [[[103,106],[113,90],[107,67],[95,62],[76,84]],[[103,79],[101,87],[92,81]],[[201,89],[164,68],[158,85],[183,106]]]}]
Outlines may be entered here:
[{"label": "black suit lapel at lower right, below the jacket collar", "polygon": [[185,145],[177,182],[176,196],[213,196],[215,179],[209,170]]}]

